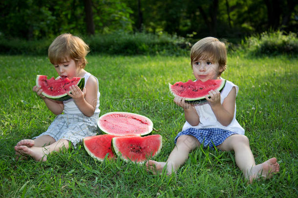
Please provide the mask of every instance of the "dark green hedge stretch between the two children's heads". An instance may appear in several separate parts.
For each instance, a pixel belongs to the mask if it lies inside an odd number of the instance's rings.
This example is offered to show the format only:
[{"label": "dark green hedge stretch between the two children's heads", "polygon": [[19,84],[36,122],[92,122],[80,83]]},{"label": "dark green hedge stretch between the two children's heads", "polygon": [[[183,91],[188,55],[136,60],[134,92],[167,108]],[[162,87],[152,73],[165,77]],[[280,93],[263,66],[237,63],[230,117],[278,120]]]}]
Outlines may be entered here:
[{"label": "dark green hedge stretch between the two children's heads", "polygon": [[154,35],[150,33],[116,32],[108,35],[95,35],[86,38],[90,44],[91,53],[107,54],[174,54],[187,52],[186,40],[167,34]]}]

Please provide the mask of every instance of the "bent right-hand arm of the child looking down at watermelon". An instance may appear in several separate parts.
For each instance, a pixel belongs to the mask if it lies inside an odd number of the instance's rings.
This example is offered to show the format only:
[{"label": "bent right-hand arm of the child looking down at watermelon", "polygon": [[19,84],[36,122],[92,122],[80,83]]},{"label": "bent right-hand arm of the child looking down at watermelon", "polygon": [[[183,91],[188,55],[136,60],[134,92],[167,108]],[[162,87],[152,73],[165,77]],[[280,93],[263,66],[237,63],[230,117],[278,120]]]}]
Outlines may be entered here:
[{"label": "bent right-hand arm of the child looking down at watermelon", "polygon": [[74,102],[82,113],[90,117],[94,114],[97,104],[97,81],[90,76],[83,91],[76,85],[70,87],[70,93],[67,94],[74,99]]}]

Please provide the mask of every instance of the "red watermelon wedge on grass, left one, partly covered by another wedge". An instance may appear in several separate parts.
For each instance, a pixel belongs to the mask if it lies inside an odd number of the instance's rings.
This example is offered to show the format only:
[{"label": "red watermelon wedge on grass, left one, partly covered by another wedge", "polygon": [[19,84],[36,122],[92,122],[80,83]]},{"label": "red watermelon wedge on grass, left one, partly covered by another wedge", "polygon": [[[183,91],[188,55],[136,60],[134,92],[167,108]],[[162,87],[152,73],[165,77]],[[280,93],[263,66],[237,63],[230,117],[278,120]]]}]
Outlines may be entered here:
[{"label": "red watermelon wedge on grass, left one, partly covered by another wedge", "polygon": [[107,155],[108,159],[115,158],[111,149],[111,141],[113,137],[118,135],[95,135],[90,137],[85,137],[83,139],[83,144],[86,152],[93,158],[103,161]]}]

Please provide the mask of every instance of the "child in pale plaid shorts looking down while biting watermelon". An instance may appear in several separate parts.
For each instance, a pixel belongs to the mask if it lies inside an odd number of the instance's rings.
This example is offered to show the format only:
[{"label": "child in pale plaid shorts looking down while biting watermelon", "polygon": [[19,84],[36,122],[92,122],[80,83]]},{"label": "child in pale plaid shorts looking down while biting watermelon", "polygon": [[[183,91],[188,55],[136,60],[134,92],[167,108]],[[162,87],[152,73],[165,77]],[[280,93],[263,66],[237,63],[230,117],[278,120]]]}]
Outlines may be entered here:
[{"label": "child in pale plaid shorts looking down while biting watermelon", "polygon": [[46,132],[17,143],[16,158],[30,155],[36,161],[46,161],[48,154],[60,152],[62,148],[68,149],[69,143],[76,147],[84,137],[97,133],[100,93],[98,79],[85,71],[85,57],[88,52],[88,45],[71,34],[58,36],[49,46],[48,57],[59,75],[58,78],[82,77],[85,78],[85,86],[83,90],[77,85],[71,86],[67,93],[71,99],[63,102],[46,98],[42,95],[43,89],[33,87],[33,91],[43,99],[47,108],[57,116]]}]

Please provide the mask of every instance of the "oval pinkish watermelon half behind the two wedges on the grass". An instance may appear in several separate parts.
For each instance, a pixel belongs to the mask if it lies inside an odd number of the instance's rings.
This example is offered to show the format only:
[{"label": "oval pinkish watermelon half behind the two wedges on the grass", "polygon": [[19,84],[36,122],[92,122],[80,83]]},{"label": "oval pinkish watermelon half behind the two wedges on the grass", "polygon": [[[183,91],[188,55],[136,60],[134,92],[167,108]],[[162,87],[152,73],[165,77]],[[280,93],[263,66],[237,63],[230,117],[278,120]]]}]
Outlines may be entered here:
[{"label": "oval pinkish watermelon half behind the two wedges on the grass", "polygon": [[152,121],[143,115],[129,112],[108,112],[98,119],[99,132],[114,135],[148,135],[153,130]]}]

